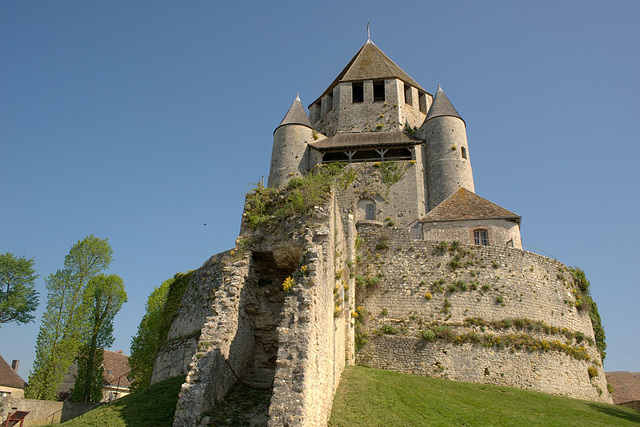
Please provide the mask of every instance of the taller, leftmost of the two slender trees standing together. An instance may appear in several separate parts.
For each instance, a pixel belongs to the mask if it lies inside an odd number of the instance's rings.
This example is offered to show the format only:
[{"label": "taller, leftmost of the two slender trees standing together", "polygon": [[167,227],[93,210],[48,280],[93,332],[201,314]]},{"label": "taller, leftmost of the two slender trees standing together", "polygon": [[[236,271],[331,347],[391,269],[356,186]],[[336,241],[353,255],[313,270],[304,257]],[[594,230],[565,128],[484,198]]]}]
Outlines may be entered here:
[{"label": "taller, leftmost of the two slender trees standing together", "polygon": [[71,247],[64,268],[45,280],[47,308],[25,397],[55,399],[56,390],[87,333],[86,288],[92,277],[109,267],[112,258],[113,250],[106,239],[87,236]]}]

